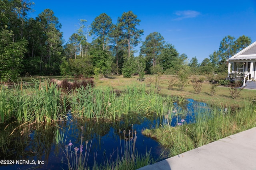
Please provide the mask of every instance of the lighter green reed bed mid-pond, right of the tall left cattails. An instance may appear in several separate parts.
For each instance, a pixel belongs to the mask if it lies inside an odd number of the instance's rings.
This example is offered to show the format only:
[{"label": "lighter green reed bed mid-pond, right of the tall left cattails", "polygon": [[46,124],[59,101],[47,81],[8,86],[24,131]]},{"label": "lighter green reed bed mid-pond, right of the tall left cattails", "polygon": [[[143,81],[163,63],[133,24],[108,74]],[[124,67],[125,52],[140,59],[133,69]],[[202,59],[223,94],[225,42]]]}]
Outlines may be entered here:
[{"label": "lighter green reed bed mid-pond, right of the tall left cattails", "polygon": [[[168,104],[166,101],[169,101]],[[170,96],[162,97],[146,90],[144,85],[126,86],[120,94],[116,94],[111,87],[89,87],[73,90],[70,108],[72,114],[78,117],[116,121],[128,114],[166,114],[172,107],[170,101]]]}]

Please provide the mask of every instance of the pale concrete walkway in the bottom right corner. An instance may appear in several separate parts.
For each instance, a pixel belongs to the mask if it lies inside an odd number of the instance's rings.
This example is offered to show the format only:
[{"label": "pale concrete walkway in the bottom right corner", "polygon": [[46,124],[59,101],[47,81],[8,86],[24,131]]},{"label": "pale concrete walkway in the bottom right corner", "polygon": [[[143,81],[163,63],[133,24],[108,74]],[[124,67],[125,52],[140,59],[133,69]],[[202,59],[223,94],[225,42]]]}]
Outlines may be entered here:
[{"label": "pale concrete walkway in the bottom right corner", "polygon": [[256,127],[139,170],[256,170]]}]

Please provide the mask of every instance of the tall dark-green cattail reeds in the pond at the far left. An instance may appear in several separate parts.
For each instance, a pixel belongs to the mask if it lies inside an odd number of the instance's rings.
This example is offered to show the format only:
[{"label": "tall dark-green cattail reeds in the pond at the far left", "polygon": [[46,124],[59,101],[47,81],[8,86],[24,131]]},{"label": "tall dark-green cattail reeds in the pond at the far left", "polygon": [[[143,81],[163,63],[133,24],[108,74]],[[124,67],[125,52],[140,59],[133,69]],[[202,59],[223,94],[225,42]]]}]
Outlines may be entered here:
[{"label": "tall dark-green cattail reeds in the pond at the far left", "polygon": [[0,87],[2,123],[11,123],[8,121],[11,118],[20,124],[51,123],[62,119],[65,105],[60,90],[48,80],[31,80],[33,87],[22,81],[11,89]]}]

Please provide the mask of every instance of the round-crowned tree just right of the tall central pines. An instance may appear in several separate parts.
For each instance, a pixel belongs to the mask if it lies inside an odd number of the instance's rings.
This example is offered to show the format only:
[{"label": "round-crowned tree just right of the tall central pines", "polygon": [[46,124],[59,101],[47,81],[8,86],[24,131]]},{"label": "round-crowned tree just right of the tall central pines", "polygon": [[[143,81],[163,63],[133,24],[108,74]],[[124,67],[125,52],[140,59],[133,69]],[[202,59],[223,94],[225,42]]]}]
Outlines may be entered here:
[{"label": "round-crowned tree just right of the tall central pines", "polygon": [[147,70],[149,70],[151,66],[153,66],[153,68],[155,67],[156,59],[158,59],[158,55],[160,55],[161,50],[164,48],[164,43],[164,37],[158,32],[153,32],[146,36],[146,40],[140,47],[140,54],[144,55],[146,58]]}]

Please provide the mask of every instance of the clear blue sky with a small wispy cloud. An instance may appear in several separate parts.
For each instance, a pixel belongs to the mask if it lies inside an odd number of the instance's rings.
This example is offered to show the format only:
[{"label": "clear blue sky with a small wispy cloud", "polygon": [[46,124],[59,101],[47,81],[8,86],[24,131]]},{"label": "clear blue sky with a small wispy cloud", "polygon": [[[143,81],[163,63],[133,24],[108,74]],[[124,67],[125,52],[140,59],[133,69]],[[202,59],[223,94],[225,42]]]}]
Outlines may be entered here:
[{"label": "clear blue sky with a small wispy cloud", "polygon": [[[63,38],[76,32],[80,19],[87,25],[102,13],[116,24],[123,12],[132,11],[144,29],[142,41],[148,34],[161,33],[165,41],[201,63],[220,46],[220,41],[231,35],[236,39],[246,35],[256,41],[256,0],[32,0],[35,18],[44,9],[53,10],[62,24]],[[88,38],[91,42],[92,37]],[[139,46],[136,47],[139,50]]]}]

